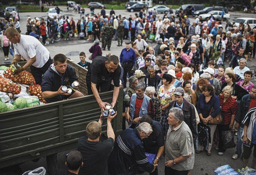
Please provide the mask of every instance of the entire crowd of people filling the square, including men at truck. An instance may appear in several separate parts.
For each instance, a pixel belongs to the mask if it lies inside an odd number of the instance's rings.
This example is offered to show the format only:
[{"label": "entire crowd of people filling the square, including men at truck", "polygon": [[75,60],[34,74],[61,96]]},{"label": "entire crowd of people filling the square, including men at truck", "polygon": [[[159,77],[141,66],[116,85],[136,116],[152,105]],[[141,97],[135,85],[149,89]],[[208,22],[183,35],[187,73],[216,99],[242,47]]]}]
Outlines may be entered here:
[{"label": "entire crowd of people filling the square, including men at truck", "polygon": [[[92,62],[88,63],[86,54],[81,52],[78,64],[88,69],[88,94],[94,94],[102,114],[98,122],[87,125],[86,136],[78,141],[77,150],[83,159],[83,163],[77,161],[79,173],[158,174],[157,165],[165,152],[165,174],[190,174],[195,153],[206,150],[210,156],[215,142],[218,154],[224,154],[223,131],[234,128],[237,145],[232,158],[242,156],[243,167],[247,166],[251,148],[256,144],[256,85],[250,81],[253,73],[246,64],[255,56],[256,28],[242,23],[235,26],[228,20],[223,27],[224,22],[215,20],[213,15],[206,19],[195,16],[191,24],[182,10],[175,18],[172,8],[163,17],[155,9],[142,9],[129,18],[111,11],[109,15],[102,8],[99,14],[82,14],[77,25],[72,17],[69,20],[60,15],[48,17],[46,23],[34,22],[39,26],[46,24],[49,36],[53,36],[58,25],[67,26],[74,33],[77,30],[78,36],[85,34],[87,27],[88,40],[93,40],[89,49]],[[33,20],[28,20],[28,29]],[[27,32],[33,30],[41,32],[41,27]],[[6,36],[15,45],[14,60],[23,56],[28,60],[26,66],[36,67],[32,73],[44,74],[36,80],[42,85],[47,102],[83,96],[77,89],[71,93],[62,90],[62,79],[67,84],[77,81],[64,54],[55,55],[51,64],[49,52],[37,52],[34,57],[23,55],[20,39],[31,38],[21,36],[14,27],[7,29]],[[157,41],[155,46],[148,43],[151,36]],[[110,50],[112,39],[118,40],[117,46],[122,46],[124,39],[125,47],[120,49],[119,57],[111,53],[102,56],[101,48]],[[36,56],[43,56],[44,61],[36,64]],[[41,65],[47,66],[44,72],[38,71]],[[116,113],[109,114],[108,139],[101,141],[103,113],[108,110],[108,103],[102,101],[99,92],[113,90],[113,108],[120,86],[124,88],[123,112],[118,115],[123,118],[123,131],[115,137],[111,120]],[[222,123],[212,123],[219,114]],[[200,132],[199,125],[206,125],[209,133]],[[145,152],[156,155],[152,163]],[[256,164],[255,153],[253,157],[251,167]]]}]

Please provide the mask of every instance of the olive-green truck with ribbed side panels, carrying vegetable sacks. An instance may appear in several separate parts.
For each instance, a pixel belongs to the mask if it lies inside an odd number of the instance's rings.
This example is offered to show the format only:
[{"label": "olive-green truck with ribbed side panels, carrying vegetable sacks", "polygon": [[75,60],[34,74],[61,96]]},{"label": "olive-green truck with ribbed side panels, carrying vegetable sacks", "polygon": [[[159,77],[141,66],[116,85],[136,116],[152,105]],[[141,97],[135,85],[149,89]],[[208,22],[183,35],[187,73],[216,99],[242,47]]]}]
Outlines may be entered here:
[{"label": "olive-green truck with ribbed side panels, carrying vegetable sacks", "polygon": [[[79,77],[79,91],[87,94],[87,70],[67,61]],[[25,62],[19,64],[24,65]],[[8,64],[4,64],[9,66]],[[100,93],[103,101],[112,101],[113,91]],[[115,134],[122,130],[122,90],[114,108],[117,116],[112,120]],[[0,168],[20,164],[46,156],[48,172],[56,174],[57,153],[76,148],[86,125],[98,121],[100,108],[93,95],[67,99],[35,107],[0,113]],[[106,134],[106,121],[102,135]]]}]

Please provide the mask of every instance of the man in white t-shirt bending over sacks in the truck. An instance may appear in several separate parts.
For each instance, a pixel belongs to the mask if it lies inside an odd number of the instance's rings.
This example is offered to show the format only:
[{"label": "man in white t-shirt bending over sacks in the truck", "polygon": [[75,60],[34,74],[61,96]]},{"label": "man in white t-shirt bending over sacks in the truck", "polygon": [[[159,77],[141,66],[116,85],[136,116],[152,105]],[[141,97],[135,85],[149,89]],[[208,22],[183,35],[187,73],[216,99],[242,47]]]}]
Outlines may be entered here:
[{"label": "man in white t-shirt bending over sacks in the truck", "polygon": [[18,72],[30,67],[36,83],[41,84],[42,74],[52,63],[48,49],[35,37],[21,35],[14,27],[7,28],[6,36],[14,45],[15,56],[12,64],[16,65],[21,60],[21,57],[24,57],[27,63],[22,67],[17,66]]}]

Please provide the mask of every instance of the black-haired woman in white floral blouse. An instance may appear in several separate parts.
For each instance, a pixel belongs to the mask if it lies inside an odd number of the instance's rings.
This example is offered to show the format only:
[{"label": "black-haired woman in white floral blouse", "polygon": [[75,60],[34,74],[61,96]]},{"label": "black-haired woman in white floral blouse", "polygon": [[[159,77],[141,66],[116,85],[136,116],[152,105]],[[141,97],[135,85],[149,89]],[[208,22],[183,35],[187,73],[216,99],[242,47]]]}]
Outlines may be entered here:
[{"label": "black-haired woman in white floral blouse", "polygon": [[[162,77],[163,85],[160,86],[158,91],[158,99],[160,99],[161,107],[162,107],[162,125],[164,128],[165,134],[168,130],[168,124],[166,121],[166,107],[169,105],[170,100],[172,99],[173,92],[175,90],[175,86],[172,84],[172,76],[168,73],[164,73]],[[168,104],[168,105],[167,105]]]}]

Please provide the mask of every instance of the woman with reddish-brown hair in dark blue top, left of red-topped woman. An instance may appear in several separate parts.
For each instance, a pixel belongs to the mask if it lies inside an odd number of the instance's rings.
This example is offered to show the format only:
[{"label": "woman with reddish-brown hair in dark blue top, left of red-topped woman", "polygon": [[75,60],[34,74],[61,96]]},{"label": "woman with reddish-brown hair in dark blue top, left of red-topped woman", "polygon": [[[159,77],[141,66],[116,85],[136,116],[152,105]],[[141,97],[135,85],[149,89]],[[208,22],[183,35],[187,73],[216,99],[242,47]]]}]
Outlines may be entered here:
[{"label": "woman with reddish-brown hair in dark blue top, left of red-topped woman", "polygon": [[[204,84],[203,87],[203,94],[200,95],[198,103],[197,103],[197,111],[199,113],[199,117],[204,124],[207,124],[208,121],[219,114],[219,98],[217,95],[214,95],[214,88],[211,84]],[[207,155],[211,155],[211,147],[213,141],[213,134],[217,127],[217,124],[209,124],[210,127],[210,135],[211,135],[211,142],[208,144]],[[199,150],[202,150],[202,146],[199,146]]]}]

